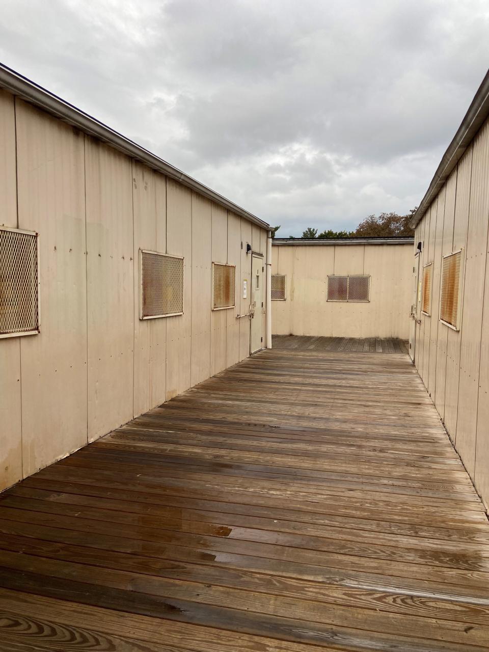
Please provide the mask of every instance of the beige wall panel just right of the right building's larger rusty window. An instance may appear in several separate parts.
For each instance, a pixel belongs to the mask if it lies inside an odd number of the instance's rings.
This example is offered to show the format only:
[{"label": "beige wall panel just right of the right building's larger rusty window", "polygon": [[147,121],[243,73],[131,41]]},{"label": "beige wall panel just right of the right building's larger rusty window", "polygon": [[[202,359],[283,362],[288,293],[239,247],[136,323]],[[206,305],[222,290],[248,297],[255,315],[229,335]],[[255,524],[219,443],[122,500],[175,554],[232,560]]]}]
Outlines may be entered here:
[{"label": "beige wall panel just right of the right building's larger rusty window", "polygon": [[489,123],[473,141],[456,447],[473,479],[481,357],[482,301],[489,224]]}]

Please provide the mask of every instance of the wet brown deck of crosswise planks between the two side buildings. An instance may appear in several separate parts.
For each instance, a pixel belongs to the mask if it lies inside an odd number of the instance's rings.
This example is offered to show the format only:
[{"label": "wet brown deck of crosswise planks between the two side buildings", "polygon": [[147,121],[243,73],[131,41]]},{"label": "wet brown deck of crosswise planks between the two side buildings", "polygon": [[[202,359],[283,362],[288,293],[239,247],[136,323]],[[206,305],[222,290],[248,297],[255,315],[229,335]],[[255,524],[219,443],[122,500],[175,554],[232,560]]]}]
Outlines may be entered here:
[{"label": "wet brown deck of crosswise planks between the two side buildings", "polygon": [[273,349],[0,497],[0,650],[489,650],[489,524],[406,354]]}]

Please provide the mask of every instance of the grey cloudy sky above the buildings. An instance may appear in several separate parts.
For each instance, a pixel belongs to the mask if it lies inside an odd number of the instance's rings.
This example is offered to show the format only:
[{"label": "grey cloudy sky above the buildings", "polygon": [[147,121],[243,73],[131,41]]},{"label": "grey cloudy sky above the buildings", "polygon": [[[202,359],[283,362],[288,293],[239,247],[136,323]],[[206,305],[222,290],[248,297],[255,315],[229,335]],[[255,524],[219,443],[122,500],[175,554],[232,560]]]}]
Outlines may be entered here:
[{"label": "grey cloudy sky above the buildings", "polygon": [[285,236],[419,203],[488,34],[487,0],[1,0],[0,61]]}]

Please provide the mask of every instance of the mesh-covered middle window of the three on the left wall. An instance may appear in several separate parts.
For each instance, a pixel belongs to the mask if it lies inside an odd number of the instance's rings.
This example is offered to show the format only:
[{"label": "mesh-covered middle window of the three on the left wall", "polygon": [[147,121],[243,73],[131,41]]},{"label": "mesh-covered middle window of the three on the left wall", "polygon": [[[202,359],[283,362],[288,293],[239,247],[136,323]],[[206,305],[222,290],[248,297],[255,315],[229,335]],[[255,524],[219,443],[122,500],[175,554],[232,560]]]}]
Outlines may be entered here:
[{"label": "mesh-covered middle window of the three on the left wall", "polygon": [[141,319],[183,314],[183,258],[141,250]]}]

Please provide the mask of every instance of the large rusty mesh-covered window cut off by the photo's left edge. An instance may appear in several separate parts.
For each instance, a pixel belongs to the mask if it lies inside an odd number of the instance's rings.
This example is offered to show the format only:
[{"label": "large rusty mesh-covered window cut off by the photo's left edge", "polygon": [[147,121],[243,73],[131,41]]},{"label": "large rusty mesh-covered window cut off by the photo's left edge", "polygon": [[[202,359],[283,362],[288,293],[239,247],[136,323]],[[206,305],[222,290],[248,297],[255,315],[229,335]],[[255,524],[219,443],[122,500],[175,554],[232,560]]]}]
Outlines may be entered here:
[{"label": "large rusty mesh-covered window cut off by the photo's left edge", "polygon": [[38,332],[37,233],[0,227],[0,337]]}]

